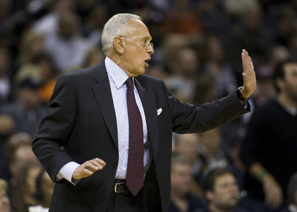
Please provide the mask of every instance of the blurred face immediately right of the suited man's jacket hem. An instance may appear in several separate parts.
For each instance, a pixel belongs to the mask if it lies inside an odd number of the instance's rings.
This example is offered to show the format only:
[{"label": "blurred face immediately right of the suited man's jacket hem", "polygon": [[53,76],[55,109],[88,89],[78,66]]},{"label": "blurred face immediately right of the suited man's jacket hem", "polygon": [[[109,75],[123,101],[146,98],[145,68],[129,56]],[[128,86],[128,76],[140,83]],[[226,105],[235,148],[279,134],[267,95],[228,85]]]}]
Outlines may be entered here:
[{"label": "blurred face immediately right of the suited man's jacket hem", "polygon": [[176,163],[171,170],[171,191],[177,196],[184,197],[191,190],[193,182],[190,164]]}]

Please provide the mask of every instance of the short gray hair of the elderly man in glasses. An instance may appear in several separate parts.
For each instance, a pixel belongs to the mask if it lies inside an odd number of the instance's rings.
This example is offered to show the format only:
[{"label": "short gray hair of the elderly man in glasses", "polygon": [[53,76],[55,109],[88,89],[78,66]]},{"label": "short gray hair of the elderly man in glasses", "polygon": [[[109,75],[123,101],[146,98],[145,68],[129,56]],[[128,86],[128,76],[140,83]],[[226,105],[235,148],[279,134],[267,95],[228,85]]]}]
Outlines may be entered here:
[{"label": "short gray hair of the elderly man in glasses", "polygon": [[104,25],[101,42],[102,50],[106,56],[109,56],[113,49],[114,37],[127,32],[128,21],[131,18],[142,21],[142,18],[138,15],[119,13],[112,16]]}]

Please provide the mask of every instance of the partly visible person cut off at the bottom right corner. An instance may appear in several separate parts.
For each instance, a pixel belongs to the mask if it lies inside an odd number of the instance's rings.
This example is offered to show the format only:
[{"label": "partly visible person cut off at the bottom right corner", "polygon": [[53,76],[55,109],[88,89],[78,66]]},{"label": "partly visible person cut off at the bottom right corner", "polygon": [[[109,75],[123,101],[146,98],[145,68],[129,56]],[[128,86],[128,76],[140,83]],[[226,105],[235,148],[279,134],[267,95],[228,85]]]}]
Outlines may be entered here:
[{"label": "partly visible person cut off at the bottom right corner", "polygon": [[288,184],[288,204],[281,212],[297,212],[297,172],[293,174]]}]

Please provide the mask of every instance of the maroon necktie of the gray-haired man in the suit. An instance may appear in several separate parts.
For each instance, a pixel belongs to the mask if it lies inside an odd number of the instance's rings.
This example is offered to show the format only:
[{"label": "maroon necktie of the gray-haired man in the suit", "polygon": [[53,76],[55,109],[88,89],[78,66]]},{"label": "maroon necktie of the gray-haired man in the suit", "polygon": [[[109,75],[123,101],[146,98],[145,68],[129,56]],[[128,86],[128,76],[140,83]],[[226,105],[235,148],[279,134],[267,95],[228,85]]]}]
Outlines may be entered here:
[{"label": "maroon necktie of the gray-haired man in the suit", "polygon": [[129,153],[126,186],[136,196],[144,185],[144,131],[140,111],[134,96],[132,78],[128,78],[127,108],[129,118]]}]

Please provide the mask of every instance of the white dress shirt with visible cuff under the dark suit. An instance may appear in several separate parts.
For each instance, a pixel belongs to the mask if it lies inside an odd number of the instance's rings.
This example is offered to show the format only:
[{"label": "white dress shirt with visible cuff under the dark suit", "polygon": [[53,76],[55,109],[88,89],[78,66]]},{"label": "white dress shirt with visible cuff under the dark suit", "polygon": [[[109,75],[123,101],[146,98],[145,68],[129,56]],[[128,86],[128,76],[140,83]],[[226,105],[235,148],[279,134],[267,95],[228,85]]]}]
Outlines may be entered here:
[{"label": "white dress shirt with visible cuff under the dark suit", "polygon": [[[127,98],[126,98],[127,86],[125,85],[125,82],[129,77],[119,66],[117,66],[108,57],[105,58],[104,62],[105,62],[105,67],[106,67],[106,71],[109,79],[110,88],[111,88],[112,100],[113,100],[115,116],[116,116],[117,133],[118,133],[119,161],[118,161],[118,167],[115,174],[115,179],[126,179],[128,152],[129,152],[129,120],[128,120]],[[145,171],[144,175],[145,175],[148,171],[152,156],[150,153],[150,144],[148,142],[148,128],[147,128],[145,112],[135,85],[134,85],[134,95],[143,120],[144,171]],[[75,162],[70,162],[66,164],[65,166],[62,167],[62,169],[57,174],[57,180],[65,178],[69,182],[71,182],[73,171],[78,166],[80,165]]]}]

